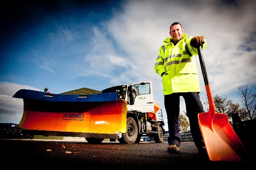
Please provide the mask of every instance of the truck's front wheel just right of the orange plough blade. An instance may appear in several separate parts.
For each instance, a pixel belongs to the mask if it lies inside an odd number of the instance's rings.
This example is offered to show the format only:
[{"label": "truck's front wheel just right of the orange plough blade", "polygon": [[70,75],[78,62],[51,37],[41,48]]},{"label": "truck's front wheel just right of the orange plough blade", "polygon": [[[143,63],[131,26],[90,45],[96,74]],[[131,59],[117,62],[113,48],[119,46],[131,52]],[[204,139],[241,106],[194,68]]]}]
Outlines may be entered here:
[{"label": "truck's front wheel just right of the orange plough blade", "polygon": [[118,141],[120,143],[135,143],[138,136],[138,127],[136,121],[132,117],[126,119],[126,132]]}]

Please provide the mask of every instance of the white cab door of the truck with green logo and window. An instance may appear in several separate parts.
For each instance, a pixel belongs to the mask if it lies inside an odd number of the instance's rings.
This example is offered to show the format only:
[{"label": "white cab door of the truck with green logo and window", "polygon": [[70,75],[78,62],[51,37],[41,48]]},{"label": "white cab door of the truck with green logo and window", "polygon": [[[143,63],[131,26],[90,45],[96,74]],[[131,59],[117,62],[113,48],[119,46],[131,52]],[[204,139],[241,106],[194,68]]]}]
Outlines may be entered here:
[{"label": "white cab door of the truck with green logo and window", "polygon": [[142,113],[154,111],[151,82],[132,84],[132,102],[128,109],[138,110]]}]

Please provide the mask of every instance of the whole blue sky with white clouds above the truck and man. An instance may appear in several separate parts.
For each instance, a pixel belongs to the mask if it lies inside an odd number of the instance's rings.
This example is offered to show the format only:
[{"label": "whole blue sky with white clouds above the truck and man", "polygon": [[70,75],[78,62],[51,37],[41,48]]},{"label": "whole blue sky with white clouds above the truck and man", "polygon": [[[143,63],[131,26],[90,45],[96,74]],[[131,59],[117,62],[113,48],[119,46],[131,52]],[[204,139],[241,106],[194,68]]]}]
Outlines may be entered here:
[{"label": "whole blue sky with white clouds above the truck and man", "polygon": [[213,95],[242,105],[238,86],[256,92],[255,0],[9,0],[0,8],[0,123],[20,123],[23,100],[12,98],[20,89],[60,94],[151,81],[166,129],[154,64],[174,22],[207,41],[203,56]]}]

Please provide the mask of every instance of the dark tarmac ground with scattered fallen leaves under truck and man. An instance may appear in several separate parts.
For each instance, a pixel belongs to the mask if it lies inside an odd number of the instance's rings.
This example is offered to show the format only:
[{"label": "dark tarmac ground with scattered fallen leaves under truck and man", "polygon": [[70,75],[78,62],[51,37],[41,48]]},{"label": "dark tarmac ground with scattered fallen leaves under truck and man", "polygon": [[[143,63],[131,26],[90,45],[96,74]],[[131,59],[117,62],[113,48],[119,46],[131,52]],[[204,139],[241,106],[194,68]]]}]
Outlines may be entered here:
[{"label": "dark tarmac ground with scattered fallen leaves under truck and man", "polygon": [[[46,169],[212,169],[254,167],[254,154],[244,162],[212,162],[200,157],[194,142],[182,142],[180,152],[168,153],[168,143],[121,144],[84,140],[0,139],[1,166]],[[1,167],[0,166],[0,167]]]}]

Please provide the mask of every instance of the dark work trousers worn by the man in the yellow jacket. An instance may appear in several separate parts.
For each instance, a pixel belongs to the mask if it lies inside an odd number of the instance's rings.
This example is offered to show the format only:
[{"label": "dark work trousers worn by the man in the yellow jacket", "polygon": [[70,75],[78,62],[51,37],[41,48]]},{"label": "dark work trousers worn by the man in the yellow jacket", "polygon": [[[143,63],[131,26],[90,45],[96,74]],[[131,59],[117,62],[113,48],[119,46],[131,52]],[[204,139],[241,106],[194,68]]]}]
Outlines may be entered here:
[{"label": "dark work trousers worn by the man in the yellow jacket", "polygon": [[186,103],[186,113],[189,119],[190,131],[196,147],[205,146],[198,124],[198,113],[203,113],[203,105],[198,92],[173,93],[164,96],[164,106],[167,113],[169,129],[168,144],[180,146],[180,128],[178,117],[180,114],[180,96],[183,96]]}]

